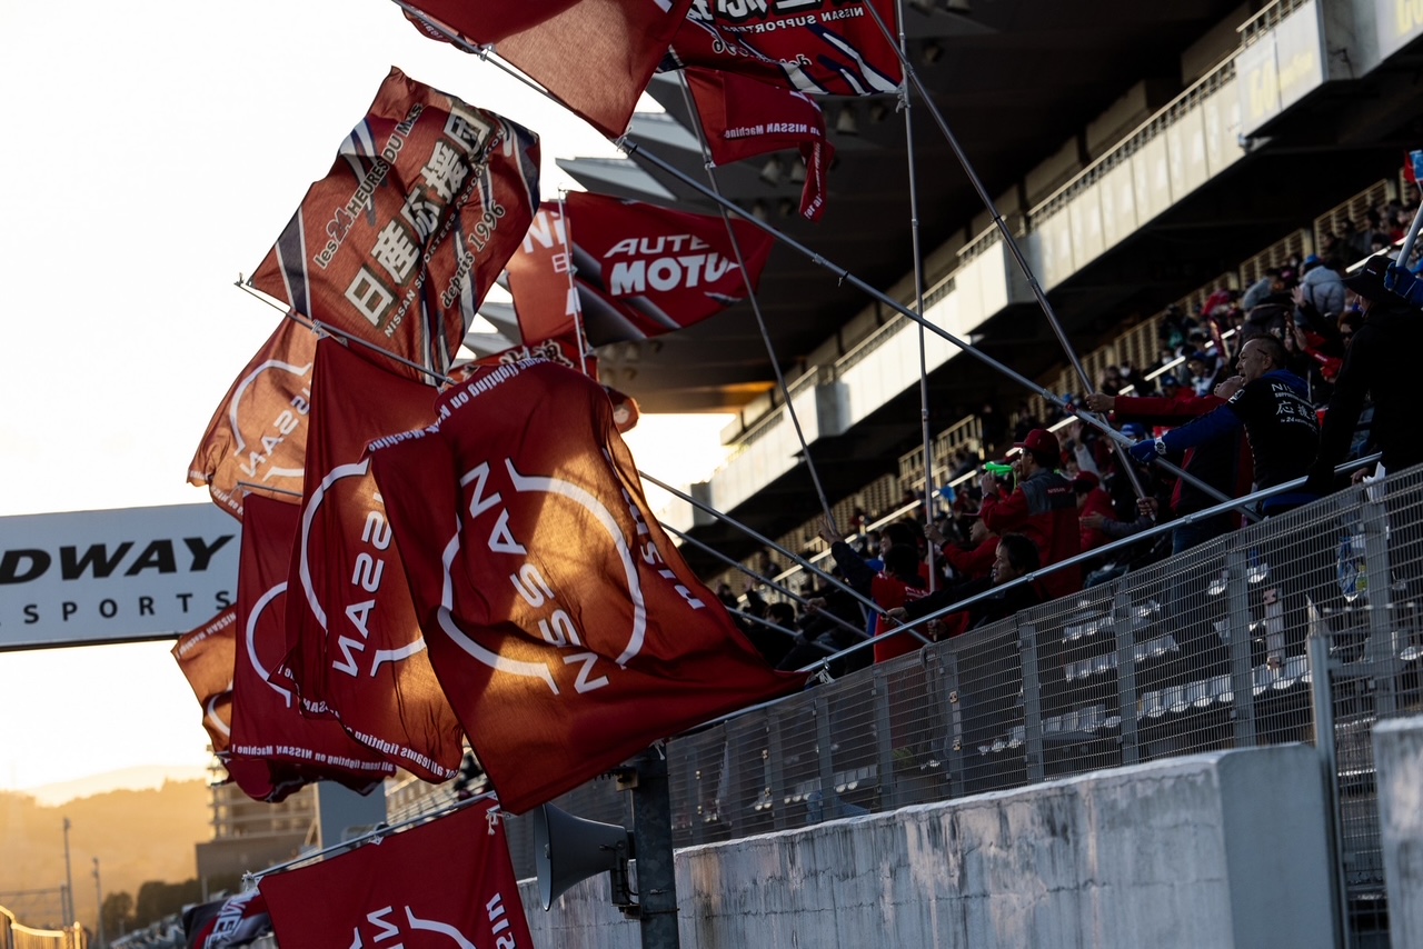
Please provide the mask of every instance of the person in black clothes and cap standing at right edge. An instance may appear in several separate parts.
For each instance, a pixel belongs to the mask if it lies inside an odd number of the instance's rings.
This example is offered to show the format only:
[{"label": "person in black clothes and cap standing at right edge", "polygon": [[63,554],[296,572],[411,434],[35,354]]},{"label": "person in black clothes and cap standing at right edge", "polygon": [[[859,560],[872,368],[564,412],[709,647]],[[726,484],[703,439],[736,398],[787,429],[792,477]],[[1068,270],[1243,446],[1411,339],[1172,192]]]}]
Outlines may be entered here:
[{"label": "person in black clothes and cap standing at right edge", "polygon": [[1309,468],[1308,487],[1318,494],[1333,491],[1333,470],[1349,450],[1369,394],[1373,396],[1370,441],[1383,452],[1385,470],[1402,471],[1423,461],[1416,376],[1423,353],[1423,313],[1389,290],[1385,280],[1392,263],[1377,255],[1359,273],[1345,277],[1345,285],[1359,295],[1363,326],[1355,330],[1345,350],[1319,437],[1319,457]]}]

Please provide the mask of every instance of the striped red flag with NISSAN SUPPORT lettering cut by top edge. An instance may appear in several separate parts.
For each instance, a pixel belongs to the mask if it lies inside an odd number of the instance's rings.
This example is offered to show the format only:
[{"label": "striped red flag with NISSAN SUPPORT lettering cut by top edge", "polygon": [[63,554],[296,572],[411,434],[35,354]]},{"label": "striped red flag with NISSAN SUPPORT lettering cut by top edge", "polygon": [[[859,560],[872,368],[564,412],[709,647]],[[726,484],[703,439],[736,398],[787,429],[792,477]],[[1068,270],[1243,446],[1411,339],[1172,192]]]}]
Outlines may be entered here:
[{"label": "striped red flag with NISSAN SUPPORT lettering cut by top edge", "polygon": [[[895,0],[869,0],[895,33]],[[696,0],[672,40],[672,68],[703,65],[822,95],[894,92],[904,73],[867,0]]]}]

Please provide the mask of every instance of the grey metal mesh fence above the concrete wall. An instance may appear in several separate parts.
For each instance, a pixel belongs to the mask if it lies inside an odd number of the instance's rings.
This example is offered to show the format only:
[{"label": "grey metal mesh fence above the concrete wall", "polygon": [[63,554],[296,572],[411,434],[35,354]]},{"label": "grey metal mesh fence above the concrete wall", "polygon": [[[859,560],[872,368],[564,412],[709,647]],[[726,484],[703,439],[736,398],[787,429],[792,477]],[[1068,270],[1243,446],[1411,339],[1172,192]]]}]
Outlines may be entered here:
[{"label": "grey metal mesh fence above the concrete wall", "polygon": [[[1170,559],[676,738],[675,844],[1315,743],[1313,635],[1329,666],[1318,684],[1349,923],[1385,932],[1370,741],[1379,719],[1423,707],[1420,511],[1423,471],[1409,471],[1245,528],[1225,518],[1224,534]],[[556,804],[628,824],[629,798],[598,781]],[[527,824],[509,821],[521,875],[534,866]]]}]

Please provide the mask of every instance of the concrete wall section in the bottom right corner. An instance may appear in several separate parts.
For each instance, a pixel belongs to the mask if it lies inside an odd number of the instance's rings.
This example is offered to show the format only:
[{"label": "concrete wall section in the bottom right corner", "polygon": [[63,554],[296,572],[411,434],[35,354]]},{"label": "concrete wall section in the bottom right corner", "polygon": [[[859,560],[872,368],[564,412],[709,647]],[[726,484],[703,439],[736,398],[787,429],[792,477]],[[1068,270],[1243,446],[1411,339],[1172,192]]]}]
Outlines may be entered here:
[{"label": "concrete wall section in the bottom right corner", "polygon": [[1423,946],[1423,717],[1376,724],[1373,763],[1389,936],[1399,949]]}]

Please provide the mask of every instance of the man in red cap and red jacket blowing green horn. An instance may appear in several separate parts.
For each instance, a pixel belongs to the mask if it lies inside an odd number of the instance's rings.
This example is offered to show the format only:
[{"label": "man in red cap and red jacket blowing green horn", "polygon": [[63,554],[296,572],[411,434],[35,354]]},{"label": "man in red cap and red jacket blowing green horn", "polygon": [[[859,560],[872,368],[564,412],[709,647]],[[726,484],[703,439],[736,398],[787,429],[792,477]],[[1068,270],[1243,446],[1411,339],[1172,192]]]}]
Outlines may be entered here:
[{"label": "man in red cap and red jacket blowing green horn", "polygon": [[[993,534],[1017,532],[1037,545],[1043,566],[1076,556],[1080,551],[1077,498],[1067,479],[1057,474],[1062,447],[1057,435],[1046,428],[1033,428],[1013,458],[1017,487],[1012,494],[992,474],[979,481],[983,504],[979,516]],[[1081,589],[1081,569],[1077,566],[1054,571],[1040,580],[1043,593],[1056,599]]]}]

